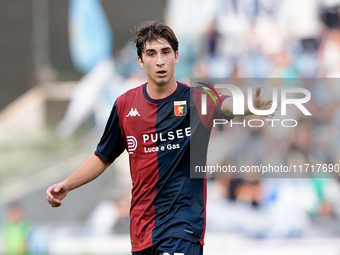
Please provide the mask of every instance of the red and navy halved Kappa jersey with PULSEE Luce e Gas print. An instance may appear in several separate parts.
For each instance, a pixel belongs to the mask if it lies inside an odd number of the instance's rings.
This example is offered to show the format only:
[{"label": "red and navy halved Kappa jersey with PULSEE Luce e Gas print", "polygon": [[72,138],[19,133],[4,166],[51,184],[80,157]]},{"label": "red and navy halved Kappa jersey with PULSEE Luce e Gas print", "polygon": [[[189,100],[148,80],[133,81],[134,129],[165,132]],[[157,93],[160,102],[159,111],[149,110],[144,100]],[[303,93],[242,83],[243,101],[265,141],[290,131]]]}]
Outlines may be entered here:
[{"label": "red and navy halved Kappa jersey with PULSEE Luce e Gas print", "polygon": [[125,149],[129,153],[132,252],[167,237],[204,244],[206,179],[190,178],[190,138],[198,131],[207,137],[196,139],[197,164],[205,165],[220,105],[208,100],[208,114],[202,116],[196,106],[204,92],[177,84],[174,93],[160,100],[150,98],[146,84],[117,98],[95,151],[106,162]]}]

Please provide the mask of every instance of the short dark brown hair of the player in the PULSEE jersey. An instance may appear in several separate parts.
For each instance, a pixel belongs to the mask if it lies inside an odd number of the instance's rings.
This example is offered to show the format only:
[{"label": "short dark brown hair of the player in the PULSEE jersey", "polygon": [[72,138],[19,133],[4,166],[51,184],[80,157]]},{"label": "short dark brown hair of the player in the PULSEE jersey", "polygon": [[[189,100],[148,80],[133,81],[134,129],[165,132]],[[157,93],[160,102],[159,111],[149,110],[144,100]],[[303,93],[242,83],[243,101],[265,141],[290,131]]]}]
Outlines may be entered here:
[{"label": "short dark brown hair of the player in the PULSEE jersey", "polygon": [[145,21],[135,29],[135,44],[137,55],[142,58],[143,50],[147,42],[165,39],[170,44],[174,52],[178,51],[178,40],[175,33],[169,26],[159,21]]}]

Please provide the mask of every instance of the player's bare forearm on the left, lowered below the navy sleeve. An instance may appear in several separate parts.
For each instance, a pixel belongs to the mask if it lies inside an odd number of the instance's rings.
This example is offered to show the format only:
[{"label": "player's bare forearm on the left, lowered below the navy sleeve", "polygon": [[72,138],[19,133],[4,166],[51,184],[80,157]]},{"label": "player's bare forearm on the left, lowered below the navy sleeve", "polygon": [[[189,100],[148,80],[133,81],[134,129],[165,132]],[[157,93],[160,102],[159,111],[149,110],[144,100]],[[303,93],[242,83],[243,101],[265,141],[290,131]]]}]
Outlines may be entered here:
[{"label": "player's bare forearm on the left, lowered below the navy sleeve", "polygon": [[74,190],[101,175],[110,163],[105,163],[95,154],[89,156],[79,168],[63,182],[69,191]]}]

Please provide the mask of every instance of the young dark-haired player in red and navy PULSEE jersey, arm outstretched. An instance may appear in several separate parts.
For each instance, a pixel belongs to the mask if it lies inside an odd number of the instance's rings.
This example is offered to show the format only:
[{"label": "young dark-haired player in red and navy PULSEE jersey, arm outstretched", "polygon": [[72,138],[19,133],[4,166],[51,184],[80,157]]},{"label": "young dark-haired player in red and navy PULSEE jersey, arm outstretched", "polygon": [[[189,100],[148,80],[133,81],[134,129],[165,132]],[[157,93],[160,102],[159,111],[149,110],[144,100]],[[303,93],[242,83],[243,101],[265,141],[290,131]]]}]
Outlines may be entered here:
[{"label": "young dark-haired player in red and navy PULSEE jersey, arm outstretched", "polygon": [[[201,149],[191,156],[205,164],[212,117],[221,105],[208,101],[208,114],[201,116],[196,105],[205,92],[176,82],[178,41],[168,26],[143,23],[136,30],[135,43],[147,83],[116,100],[95,153],[64,181],[49,187],[47,201],[60,206],[69,191],[98,177],[126,149],[133,184],[132,253],[200,255],[206,179],[190,178],[189,149],[191,140],[196,141]],[[254,106],[268,109],[271,101],[262,99],[260,91]],[[224,101],[222,111],[231,115],[231,100]],[[205,139],[195,139],[197,134]]]}]

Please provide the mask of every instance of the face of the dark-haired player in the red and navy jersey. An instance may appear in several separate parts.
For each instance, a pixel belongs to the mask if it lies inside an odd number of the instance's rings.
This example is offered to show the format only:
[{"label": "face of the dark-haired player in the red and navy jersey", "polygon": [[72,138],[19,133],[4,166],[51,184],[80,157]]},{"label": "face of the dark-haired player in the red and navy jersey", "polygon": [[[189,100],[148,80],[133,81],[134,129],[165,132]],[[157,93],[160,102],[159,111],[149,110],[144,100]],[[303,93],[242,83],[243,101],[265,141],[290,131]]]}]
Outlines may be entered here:
[{"label": "face of the dark-haired player in the red and navy jersey", "polygon": [[145,69],[148,83],[162,86],[176,82],[174,73],[178,52],[174,52],[165,39],[147,42],[142,57],[138,57],[138,62]]}]

